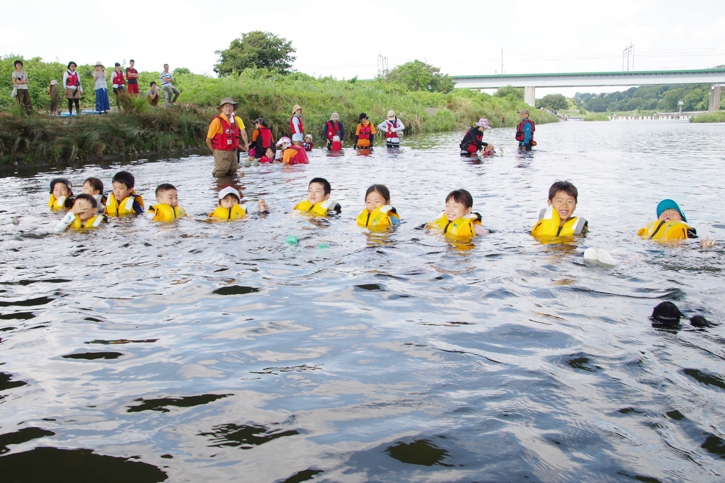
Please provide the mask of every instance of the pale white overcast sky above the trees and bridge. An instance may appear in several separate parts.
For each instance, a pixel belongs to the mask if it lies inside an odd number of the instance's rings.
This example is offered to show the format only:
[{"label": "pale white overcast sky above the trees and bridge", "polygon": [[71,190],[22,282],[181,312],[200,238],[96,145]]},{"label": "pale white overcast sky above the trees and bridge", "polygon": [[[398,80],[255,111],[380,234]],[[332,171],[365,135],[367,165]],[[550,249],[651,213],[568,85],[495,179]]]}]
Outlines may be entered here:
[{"label": "pale white overcast sky above the trees and bridge", "polygon": [[[0,0],[4,12],[17,5]],[[0,54],[63,63],[100,60],[107,66],[135,59],[139,70],[161,70],[168,63],[172,70],[188,67],[215,75],[214,51],[250,30],[291,40],[297,70],[348,79],[374,77],[378,54],[391,68],[421,59],[450,75],[500,73],[501,49],[503,72],[510,74],[621,70],[629,43],[636,70],[725,64],[721,0],[33,0],[24,5],[25,14],[12,22],[6,18],[0,30]],[[537,89],[537,97],[594,89],[621,88]]]}]

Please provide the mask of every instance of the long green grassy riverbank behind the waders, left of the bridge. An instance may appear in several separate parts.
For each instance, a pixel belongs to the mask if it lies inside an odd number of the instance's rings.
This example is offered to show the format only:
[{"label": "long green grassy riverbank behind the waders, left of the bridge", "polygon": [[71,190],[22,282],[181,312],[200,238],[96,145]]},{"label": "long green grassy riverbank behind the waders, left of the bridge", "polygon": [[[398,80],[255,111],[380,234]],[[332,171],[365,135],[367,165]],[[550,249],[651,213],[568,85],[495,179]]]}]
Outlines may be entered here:
[{"label": "long green grassy riverbank behind the waders, left of the bridge", "polygon": [[[3,59],[2,63],[9,62]],[[41,77],[41,72],[44,72],[42,76],[50,77],[50,67],[59,70],[53,77],[59,78],[65,68],[49,66],[36,59],[26,62],[31,80],[35,76]],[[92,85],[92,80],[86,79],[87,73],[83,73],[84,68],[86,66],[79,67],[84,85]],[[141,72],[141,86],[158,80],[158,75],[158,72]],[[9,79],[9,72],[7,77]],[[103,116],[49,118],[42,111],[1,116],[0,164],[54,164],[102,156],[203,148],[207,126],[217,114],[214,106],[225,96],[239,102],[237,115],[247,124],[247,133],[252,132],[252,119],[265,117],[276,138],[289,135],[291,107],[300,104],[304,109],[305,131],[316,140],[322,138],[323,124],[331,112],[340,114],[349,132],[357,124],[360,112],[366,112],[377,124],[385,119],[388,109],[394,109],[405,124],[406,133],[414,134],[464,129],[479,117],[488,118],[492,127],[511,127],[520,120],[518,109],[527,107],[513,94],[497,97],[465,89],[448,94],[416,92],[378,81],[315,78],[301,73],[281,76],[266,70],[247,70],[242,75],[223,78],[190,73],[177,74],[175,78],[175,85],[182,94],[179,105],[168,109],[149,106],[144,97],[140,97],[128,98],[121,112]],[[41,81],[30,83],[33,105],[38,110],[47,109],[49,104],[47,92],[43,91],[44,80]],[[3,83],[4,80],[0,85]],[[0,96],[9,97],[10,88],[5,87],[7,89],[1,89]],[[93,106],[93,103],[94,91],[86,88],[83,104]],[[8,99],[0,101],[0,106],[4,106],[6,112],[17,110]],[[65,106],[59,107],[65,110]],[[531,118],[539,124],[558,121],[555,116],[537,110],[531,111]]]}]

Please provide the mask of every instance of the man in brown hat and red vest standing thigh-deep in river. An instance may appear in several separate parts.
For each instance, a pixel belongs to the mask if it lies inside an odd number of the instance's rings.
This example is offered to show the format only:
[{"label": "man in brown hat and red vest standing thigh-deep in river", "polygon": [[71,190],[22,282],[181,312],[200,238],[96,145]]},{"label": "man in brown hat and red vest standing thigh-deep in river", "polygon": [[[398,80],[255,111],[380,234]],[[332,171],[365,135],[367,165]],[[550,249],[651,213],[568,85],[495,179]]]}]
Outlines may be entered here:
[{"label": "man in brown hat and red vest standing thigh-deep in river", "polygon": [[207,133],[207,146],[214,154],[215,176],[231,176],[236,173],[237,151],[239,150],[239,137],[244,139],[244,151],[249,150],[247,131],[244,130],[244,122],[234,115],[239,109],[239,103],[233,98],[225,97],[217,107],[220,114],[212,118]]}]

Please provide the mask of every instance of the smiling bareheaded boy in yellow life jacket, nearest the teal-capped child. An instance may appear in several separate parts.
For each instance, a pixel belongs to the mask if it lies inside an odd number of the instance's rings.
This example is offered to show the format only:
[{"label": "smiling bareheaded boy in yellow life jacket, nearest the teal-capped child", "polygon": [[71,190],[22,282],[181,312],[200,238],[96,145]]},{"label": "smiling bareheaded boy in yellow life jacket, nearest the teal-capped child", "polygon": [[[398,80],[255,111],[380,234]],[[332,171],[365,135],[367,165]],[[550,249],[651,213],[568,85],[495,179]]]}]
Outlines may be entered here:
[{"label": "smiling bareheaded boy in yellow life jacket, nearest the teal-capped child", "polygon": [[579,191],[568,181],[557,181],[549,188],[549,207],[539,213],[531,235],[536,238],[572,237],[589,231],[589,223],[573,217]]}]

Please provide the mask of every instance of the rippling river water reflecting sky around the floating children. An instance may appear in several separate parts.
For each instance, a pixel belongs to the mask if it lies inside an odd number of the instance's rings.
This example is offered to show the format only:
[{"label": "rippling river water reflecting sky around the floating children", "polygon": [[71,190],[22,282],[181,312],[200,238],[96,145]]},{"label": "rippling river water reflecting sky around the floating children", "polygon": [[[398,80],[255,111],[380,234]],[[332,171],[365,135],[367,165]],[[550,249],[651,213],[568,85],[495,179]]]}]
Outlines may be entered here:
[{"label": "rippling river water reflecting sky around the floating children", "polygon": [[[497,129],[484,139],[504,155],[488,159],[460,158],[462,135],[241,168],[270,214],[232,223],[205,219],[209,156],[6,173],[4,481],[722,481],[725,325],[648,317],[673,301],[725,322],[723,245],[635,233],[674,198],[725,239],[725,125],[541,125],[528,156]],[[51,178],[109,189],[121,167],[147,207],[171,182],[191,217],[54,233]],[[291,213],[315,176],[339,217]],[[579,188],[591,232],[542,245],[528,230],[555,180]],[[391,190],[394,232],[355,225],[373,182]],[[421,229],[455,188],[491,235]],[[585,263],[589,246],[619,264]]]}]

